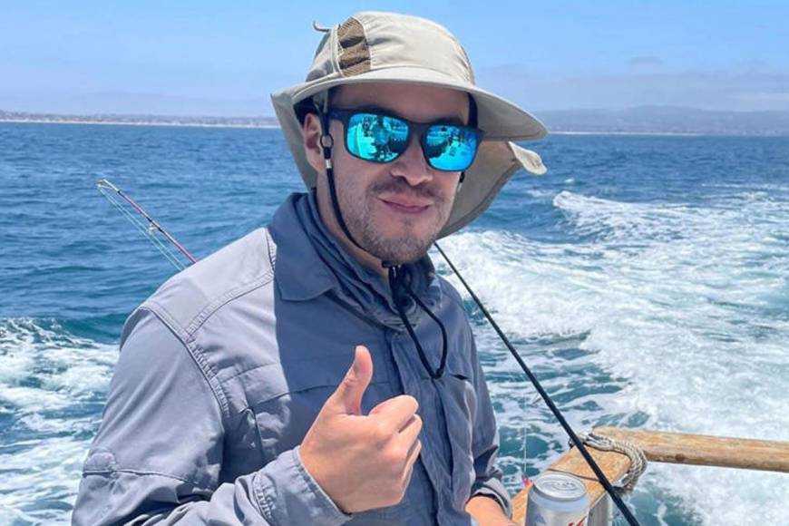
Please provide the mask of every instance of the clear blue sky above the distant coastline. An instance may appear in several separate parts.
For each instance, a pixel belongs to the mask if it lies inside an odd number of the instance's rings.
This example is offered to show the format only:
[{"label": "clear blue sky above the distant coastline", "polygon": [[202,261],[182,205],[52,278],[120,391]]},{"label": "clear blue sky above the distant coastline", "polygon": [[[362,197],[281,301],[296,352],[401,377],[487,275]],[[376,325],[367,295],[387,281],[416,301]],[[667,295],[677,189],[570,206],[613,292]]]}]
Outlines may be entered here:
[{"label": "clear blue sky above the distant coastline", "polygon": [[[6,1],[0,109],[270,114],[358,10],[446,25],[483,87],[535,110],[789,110],[789,2]],[[114,106],[113,106],[114,105]],[[144,109],[144,108],[143,108]]]}]

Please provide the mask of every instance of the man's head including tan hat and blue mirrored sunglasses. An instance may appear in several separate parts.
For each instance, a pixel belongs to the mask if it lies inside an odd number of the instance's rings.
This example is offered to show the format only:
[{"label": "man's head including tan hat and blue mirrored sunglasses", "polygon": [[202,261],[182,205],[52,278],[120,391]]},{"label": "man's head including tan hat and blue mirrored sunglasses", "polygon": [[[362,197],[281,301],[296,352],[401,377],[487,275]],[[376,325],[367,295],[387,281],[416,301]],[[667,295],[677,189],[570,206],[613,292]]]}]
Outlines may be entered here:
[{"label": "man's head including tan hat and blue mirrored sunglasses", "polygon": [[[318,30],[324,35],[307,79],[272,94],[272,101],[302,179],[307,188],[317,188],[323,219],[332,228],[333,223],[337,226],[336,217],[347,214],[339,227],[344,234],[347,230],[346,238],[355,241],[352,251],[358,244],[390,262],[419,258],[431,240],[461,229],[482,214],[516,170],[545,171],[536,153],[512,142],[540,139],[546,133],[541,122],[516,104],[477,87],[463,46],[442,25],[417,16],[364,12]],[[471,142],[465,136],[458,140],[454,132],[444,133],[444,143],[453,141],[461,148],[445,149],[446,155],[439,160],[432,150],[442,141],[432,134],[423,141],[425,150],[431,152],[422,155],[413,135],[403,150],[403,141],[393,141],[388,135],[392,127],[369,120],[354,132],[359,139],[351,145],[355,157],[346,148],[340,116],[326,125],[334,140],[334,167],[326,170],[320,155],[319,121],[315,116],[305,120],[305,115],[316,110],[315,98],[330,91],[335,93],[333,107],[373,102],[419,129],[433,119],[467,120],[469,101],[473,101],[475,125],[484,137],[478,136],[474,147],[467,148]],[[473,158],[467,155],[472,150],[476,152]],[[442,164],[464,155],[471,164]],[[464,174],[461,189],[460,171],[452,171],[459,165]],[[434,166],[451,168],[441,171]],[[326,177],[326,171],[336,174]],[[341,213],[325,213],[327,197],[332,209]]]}]

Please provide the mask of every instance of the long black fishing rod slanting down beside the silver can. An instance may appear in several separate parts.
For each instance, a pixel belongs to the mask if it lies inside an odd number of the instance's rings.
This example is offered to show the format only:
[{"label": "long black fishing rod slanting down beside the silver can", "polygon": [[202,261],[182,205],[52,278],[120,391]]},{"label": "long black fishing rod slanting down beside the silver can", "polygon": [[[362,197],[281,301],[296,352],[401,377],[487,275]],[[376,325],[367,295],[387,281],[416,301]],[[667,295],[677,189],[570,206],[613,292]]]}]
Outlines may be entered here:
[{"label": "long black fishing rod slanting down beside the silver can", "polygon": [[507,346],[507,348],[510,350],[510,353],[518,362],[518,365],[521,365],[521,369],[523,369],[523,372],[526,373],[526,375],[529,377],[531,384],[534,385],[534,388],[537,389],[537,392],[540,393],[543,402],[545,402],[545,404],[548,405],[550,412],[553,413],[553,416],[555,416],[556,419],[559,421],[561,427],[564,428],[564,431],[568,435],[570,435],[570,441],[572,441],[572,443],[578,448],[578,451],[583,456],[584,460],[589,464],[589,467],[591,468],[592,472],[594,472],[595,475],[598,477],[598,481],[600,482],[600,484],[602,484],[606,492],[609,493],[611,500],[613,500],[613,502],[617,505],[619,511],[622,512],[622,515],[625,516],[625,519],[628,521],[628,524],[630,524],[630,526],[640,526],[636,518],[628,510],[628,507],[625,505],[625,502],[622,502],[622,499],[619,497],[619,493],[617,493],[616,490],[614,490],[614,487],[611,485],[611,482],[609,482],[608,477],[606,477],[605,473],[603,473],[602,470],[600,470],[598,463],[595,462],[595,460],[589,454],[589,451],[587,451],[586,446],[583,445],[578,435],[572,430],[572,427],[570,426],[570,424],[568,424],[567,420],[565,420],[564,415],[561,414],[561,411],[556,406],[556,404],[553,404],[553,400],[550,399],[550,395],[548,395],[545,389],[542,388],[542,385],[540,384],[540,381],[537,379],[537,376],[535,376],[531,372],[529,366],[526,365],[526,363],[523,361],[523,358],[521,358],[521,355],[518,354],[518,351],[516,351],[515,347],[512,346],[512,344],[510,343],[510,339],[504,335],[502,329],[499,327],[499,324],[497,324],[496,320],[493,319],[491,313],[489,313],[488,309],[485,308],[484,305],[482,305],[482,300],[480,300],[480,298],[477,297],[476,294],[474,294],[472,287],[469,287],[469,284],[466,282],[465,279],[463,279],[463,276],[461,275],[460,271],[458,271],[458,269],[453,265],[453,262],[450,260],[449,257],[447,257],[443,249],[438,246],[438,243],[433,243],[433,246],[439,251],[439,253],[441,253],[447,265],[449,265],[449,267],[452,268],[455,276],[457,276],[458,279],[460,279],[461,283],[463,283],[463,287],[465,287],[465,289],[468,291],[469,295],[474,300],[474,303],[477,304],[477,307],[480,307],[482,314],[488,319],[488,322],[490,322],[491,326],[493,327],[493,330],[496,331],[496,334],[498,334],[499,337],[502,338],[502,342],[504,342],[504,345]]}]

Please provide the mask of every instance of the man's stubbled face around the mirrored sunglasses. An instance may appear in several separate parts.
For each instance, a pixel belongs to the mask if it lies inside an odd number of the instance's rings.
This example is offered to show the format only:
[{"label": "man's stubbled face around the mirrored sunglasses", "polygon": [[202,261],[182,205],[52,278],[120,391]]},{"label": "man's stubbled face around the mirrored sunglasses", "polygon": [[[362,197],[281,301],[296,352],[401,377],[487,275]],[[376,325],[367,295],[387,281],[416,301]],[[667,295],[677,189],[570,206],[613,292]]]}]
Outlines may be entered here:
[{"label": "man's stubbled face around the mirrored sunglasses", "polygon": [[[379,108],[413,122],[469,118],[465,93],[398,83],[342,86],[331,106]],[[343,219],[365,250],[376,258],[406,263],[422,258],[443,229],[453,207],[460,172],[433,169],[417,134],[395,161],[364,161],[346,151],[342,122],[332,120],[332,150],[337,199]],[[319,177],[318,200],[332,210],[326,177]],[[331,212],[330,212],[331,213]]]}]

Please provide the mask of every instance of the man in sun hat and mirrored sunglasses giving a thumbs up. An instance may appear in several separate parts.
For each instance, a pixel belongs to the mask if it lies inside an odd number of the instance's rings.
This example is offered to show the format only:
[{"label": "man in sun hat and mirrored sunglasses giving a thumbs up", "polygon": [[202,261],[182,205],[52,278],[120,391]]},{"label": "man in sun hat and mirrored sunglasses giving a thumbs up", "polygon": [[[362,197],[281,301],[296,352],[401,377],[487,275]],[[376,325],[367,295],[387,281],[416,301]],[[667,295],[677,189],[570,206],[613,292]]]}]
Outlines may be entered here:
[{"label": "man in sun hat and mirrored sunglasses giving a thumbs up", "polygon": [[132,313],[74,523],[510,523],[463,302],[426,251],[544,170],[509,140],[545,131],[472,81],[433,22],[326,30],[274,96],[311,191]]}]

